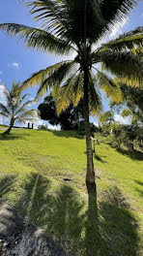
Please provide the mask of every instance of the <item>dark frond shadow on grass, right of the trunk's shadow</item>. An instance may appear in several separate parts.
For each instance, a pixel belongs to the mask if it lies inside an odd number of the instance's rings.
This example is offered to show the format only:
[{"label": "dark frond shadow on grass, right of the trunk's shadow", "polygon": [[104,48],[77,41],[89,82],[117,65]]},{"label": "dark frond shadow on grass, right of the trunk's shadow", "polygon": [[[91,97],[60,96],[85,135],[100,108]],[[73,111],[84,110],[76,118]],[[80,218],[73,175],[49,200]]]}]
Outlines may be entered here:
[{"label": "dark frond shadow on grass, right of the trunk's shadow", "polygon": [[100,227],[107,244],[106,255],[138,255],[138,225],[129,204],[117,187],[105,194],[106,201],[100,203]]}]

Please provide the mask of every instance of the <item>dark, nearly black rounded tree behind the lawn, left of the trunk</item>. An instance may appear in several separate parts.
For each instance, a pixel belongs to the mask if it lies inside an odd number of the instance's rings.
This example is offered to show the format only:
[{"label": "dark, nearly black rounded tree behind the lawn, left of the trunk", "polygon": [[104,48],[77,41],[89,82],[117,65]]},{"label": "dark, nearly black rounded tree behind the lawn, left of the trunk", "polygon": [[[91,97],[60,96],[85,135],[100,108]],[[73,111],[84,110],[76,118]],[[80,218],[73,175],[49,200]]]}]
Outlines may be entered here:
[{"label": "dark, nearly black rounded tree behind the lawn, left of the trunk", "polygon": [[43,103],[38,107],[39,114],[43,120],[49,121],[52,125],[61,125],[62,130],[78,130],[80,122],[83,120],[83,102],[80,101],[77,107],[69,106],[65,112],[57,115],[56,101],[49,95],[45,97]]}]

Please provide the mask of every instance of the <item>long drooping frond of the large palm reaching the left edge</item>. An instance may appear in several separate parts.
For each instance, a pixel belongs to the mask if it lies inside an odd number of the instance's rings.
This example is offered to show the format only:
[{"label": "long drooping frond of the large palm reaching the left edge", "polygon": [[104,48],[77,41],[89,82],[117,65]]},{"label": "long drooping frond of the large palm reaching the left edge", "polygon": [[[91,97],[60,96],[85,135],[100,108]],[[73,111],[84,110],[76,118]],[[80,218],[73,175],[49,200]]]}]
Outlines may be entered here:
[{"label": "long drooping frond of the large palm reaching the left edge", "polygon": [[69,53],[72,49],[66,41],[61,40],[40,28],[15,23],[4,23],[0,24],[0,29],[10,36],[17,35],[19,40],[23,40],[27,48],[36,48],[58,54]]}]

